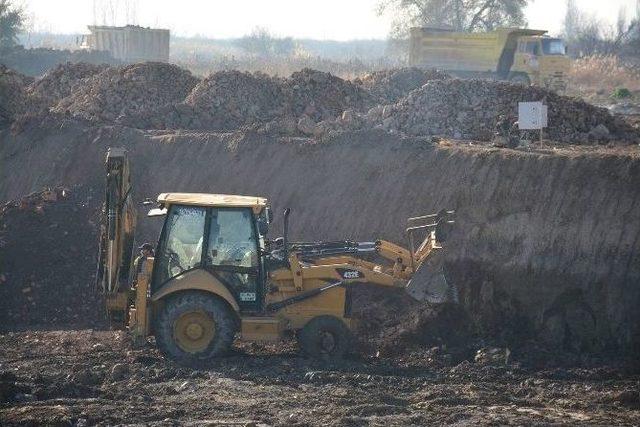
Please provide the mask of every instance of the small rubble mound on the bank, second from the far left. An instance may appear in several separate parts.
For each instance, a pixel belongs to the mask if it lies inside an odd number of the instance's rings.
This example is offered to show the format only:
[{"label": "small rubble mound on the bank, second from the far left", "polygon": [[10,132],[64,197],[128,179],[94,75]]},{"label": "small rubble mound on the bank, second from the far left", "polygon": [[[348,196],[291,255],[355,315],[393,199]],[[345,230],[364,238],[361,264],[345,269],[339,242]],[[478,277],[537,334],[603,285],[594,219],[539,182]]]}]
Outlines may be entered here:
[{"label": "small rubble mound on the bank, second from the far left", "polygon": [[47,71],[41,78],[33,82],[27,92],[34,102],[47,107],[57,104],[62,98],[78,90],[85,80],[104,71],[107,65],[89,64],[86,62],[67,62],[59,64]]}]

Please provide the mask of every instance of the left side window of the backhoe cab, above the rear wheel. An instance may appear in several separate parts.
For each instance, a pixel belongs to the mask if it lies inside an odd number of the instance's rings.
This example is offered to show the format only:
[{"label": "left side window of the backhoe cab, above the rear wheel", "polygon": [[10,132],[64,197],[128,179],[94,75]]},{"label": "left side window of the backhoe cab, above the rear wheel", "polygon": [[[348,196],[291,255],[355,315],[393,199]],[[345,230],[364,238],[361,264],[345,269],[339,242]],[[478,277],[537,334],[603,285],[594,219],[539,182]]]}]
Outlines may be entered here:
[{"label": "left side window of the backhoe cab, above the rear wheel", "polygon": [[163,283],[200,265],[205,218],[205,208],[171,206],[165,222],[160,253],[156,254],[157,283]]}]

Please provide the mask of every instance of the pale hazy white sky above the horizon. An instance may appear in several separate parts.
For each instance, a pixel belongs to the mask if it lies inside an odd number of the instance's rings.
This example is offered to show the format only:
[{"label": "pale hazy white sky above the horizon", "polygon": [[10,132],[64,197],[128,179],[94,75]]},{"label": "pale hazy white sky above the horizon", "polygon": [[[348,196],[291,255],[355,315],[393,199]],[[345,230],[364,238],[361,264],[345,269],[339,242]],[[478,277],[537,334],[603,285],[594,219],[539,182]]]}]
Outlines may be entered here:
[{"label": "pale hazy white sky above the horizon", "polygon": [[[585,11],[615,22],[620,7],[631,15],[635,0],[576,0]],[[88,24],[170,28],[183,36],[237,37],[255,27],[279,36],[317,39],[384,38],[390,18],[377,16],[378,0],[17,0],[38,31],[83,33]],[[533,0],[529,27],[561,28],[564,0]],[[110,7],[114,6],[114,7]],[[114,19],[115,18],[115,19]]]}]

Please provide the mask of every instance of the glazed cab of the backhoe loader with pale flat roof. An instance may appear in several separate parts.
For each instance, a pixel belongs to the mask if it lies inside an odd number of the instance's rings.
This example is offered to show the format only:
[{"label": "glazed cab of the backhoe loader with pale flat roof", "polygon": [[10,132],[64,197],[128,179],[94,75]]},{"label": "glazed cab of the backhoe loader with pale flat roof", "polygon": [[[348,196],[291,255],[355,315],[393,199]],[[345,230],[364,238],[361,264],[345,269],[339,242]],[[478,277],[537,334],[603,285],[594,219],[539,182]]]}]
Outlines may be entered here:
[{"label": "glazed cab of the backhoe loader with pale flat roof", "polygon": [[266,222],[266,199],[167,193],[158,201],[166,220],[156,248],[151,293],[184,287],[190,273],[203,270],[231,294],[226,298],[231,306],[241,312],[260,311],[265,281],[260,230],[266,231],[260,224]]}]

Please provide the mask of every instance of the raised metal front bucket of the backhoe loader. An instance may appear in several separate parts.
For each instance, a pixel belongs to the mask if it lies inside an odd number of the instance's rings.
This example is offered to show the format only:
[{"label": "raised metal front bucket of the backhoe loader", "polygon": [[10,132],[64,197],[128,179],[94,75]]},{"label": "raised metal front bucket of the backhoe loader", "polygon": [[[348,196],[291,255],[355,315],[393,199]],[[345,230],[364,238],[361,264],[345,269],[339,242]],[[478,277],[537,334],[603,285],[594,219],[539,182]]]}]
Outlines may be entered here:
[{"label": "raised metal front bucket of the backhoe loader", "polygon": [[458,290],[444,275],[444,251],[437,250],[425,260],[407,284],[406,291],[418,301],[434,304],[458,302]]}]

